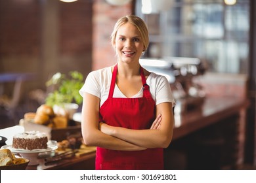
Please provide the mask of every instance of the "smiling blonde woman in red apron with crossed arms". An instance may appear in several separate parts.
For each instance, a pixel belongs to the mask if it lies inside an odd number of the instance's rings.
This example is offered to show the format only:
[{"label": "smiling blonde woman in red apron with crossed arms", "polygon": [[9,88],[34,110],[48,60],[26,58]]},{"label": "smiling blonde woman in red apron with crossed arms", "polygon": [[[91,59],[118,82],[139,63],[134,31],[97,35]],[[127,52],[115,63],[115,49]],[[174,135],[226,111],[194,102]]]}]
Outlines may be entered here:
[{"label": "smiling blonde woman in red apron with crossed arms", "polygon": [[138,16],[124,16],[111,38],[117,64],[89,73],[80,90],[83,139],[97,146],[96,169],[163,169],[175,101],[167,79],[140,66],[148,29]]}]

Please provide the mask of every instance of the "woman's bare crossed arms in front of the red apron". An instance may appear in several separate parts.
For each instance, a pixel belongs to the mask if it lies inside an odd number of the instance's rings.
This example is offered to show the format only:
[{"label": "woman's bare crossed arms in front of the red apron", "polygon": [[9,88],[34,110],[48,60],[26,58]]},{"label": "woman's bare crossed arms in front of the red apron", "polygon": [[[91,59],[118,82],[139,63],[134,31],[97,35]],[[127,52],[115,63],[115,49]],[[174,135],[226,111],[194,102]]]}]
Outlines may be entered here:
[{"label": "woman's bare crossed arms in front of the red apron", "polygon": [[145,150],[166,148],[173,136],[173,112],[171,103],[156,106],[156,120],[150,129],[126,129],[98,122],[98,97],[83,95],[82,135],[85,144],[111,150]]}]

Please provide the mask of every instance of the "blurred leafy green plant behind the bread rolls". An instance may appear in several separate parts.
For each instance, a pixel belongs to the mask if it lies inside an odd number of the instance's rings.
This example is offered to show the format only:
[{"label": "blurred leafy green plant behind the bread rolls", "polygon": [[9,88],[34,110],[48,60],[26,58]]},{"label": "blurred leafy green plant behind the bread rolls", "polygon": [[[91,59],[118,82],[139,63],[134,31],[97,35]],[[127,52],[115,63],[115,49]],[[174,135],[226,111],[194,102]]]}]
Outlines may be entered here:
[{"label": "blurred leafy green plant behind the bread rolls", "polygon": [[68,76],[56,73],[46,82],[46,86],[51,90],[45,99],[47,105],[52,107],[64,103],[80,105],[83,101],[79,94],[79,90],[83,86],[83,75],[77,71],[70,71]]}]

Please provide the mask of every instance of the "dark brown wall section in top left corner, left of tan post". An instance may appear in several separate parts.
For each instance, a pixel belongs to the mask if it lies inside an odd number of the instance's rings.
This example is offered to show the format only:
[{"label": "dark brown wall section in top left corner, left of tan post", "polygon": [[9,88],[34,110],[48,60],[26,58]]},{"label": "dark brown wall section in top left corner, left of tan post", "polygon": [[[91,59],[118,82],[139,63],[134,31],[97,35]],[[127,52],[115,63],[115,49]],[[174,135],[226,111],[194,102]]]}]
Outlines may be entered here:
[{"label": "dark brown wall section in top left corner, left of tan post", "polygon": [[0,1],[1,58],[39,55],[39,12],[39,1]]}]

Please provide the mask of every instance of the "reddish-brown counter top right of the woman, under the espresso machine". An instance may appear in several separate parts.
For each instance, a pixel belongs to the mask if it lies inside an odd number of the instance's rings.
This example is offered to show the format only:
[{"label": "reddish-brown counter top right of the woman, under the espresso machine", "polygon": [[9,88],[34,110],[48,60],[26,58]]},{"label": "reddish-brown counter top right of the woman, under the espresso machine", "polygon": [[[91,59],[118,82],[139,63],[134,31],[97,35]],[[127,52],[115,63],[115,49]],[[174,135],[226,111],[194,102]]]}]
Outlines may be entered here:
[{"label": "reddish-brown counter top right of the woman, under the espresso machine", "polygon": [[186,114],[175,114],[173,140],[189,133],[219,122],[230,115],[238,114],[240,110],[249,107],[249,102],[235,97],[207,97],[199,110]]}]

